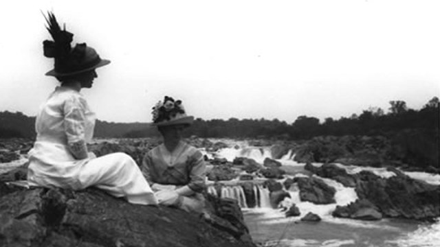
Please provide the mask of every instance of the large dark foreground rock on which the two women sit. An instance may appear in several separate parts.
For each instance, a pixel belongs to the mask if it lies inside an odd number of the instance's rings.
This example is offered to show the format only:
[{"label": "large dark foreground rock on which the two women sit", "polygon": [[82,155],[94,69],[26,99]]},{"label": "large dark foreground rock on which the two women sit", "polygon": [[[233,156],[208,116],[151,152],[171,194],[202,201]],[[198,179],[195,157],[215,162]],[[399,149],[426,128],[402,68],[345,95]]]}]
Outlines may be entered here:
[{"label": "large dark foreground rock on which the two women sit", "polygon": [[98,189],[15,189],[0,200],[0,246],[254,246],[236,203],[208,201],[215,213],[200,217]]}]

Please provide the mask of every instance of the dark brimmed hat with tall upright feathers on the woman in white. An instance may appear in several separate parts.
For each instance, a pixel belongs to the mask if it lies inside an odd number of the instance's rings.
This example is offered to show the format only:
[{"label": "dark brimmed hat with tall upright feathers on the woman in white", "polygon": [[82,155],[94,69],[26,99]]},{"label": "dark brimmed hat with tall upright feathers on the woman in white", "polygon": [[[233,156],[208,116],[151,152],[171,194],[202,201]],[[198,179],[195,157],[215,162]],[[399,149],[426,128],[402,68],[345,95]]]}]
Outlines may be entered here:
[{"label": "dark brimmed hat with tall upright feathers on the woman in white", "polygon": [[101,59],[96,50],[86,43],[76,44],[72,49],[70,43],[74,34],[67,32],[65,27],[61,30],[53,13],[47,12],[45,19],[48,24],[47,30],[54,40],[43,41],[44,56],[55,59],[54,69],[45,75],[76,75],[110,63],[110,60]]}]

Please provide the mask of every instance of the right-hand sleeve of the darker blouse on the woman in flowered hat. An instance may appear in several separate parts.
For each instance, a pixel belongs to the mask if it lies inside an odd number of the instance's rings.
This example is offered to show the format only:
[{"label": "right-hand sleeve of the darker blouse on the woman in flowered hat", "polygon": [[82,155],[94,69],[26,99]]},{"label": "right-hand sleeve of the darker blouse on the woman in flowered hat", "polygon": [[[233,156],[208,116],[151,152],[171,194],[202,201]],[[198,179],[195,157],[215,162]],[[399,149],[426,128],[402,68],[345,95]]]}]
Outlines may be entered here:
[{"label": "right-hand sleeve of the darker blouse on the woman in flowered hat", "polygon": [[190,183],[188,187],[195,192],[201,192],[205,189],[206,178],[206,163],[203,159],[203,154],[200,151],[192,154],[191,157],[191,170],[190,170]]}]

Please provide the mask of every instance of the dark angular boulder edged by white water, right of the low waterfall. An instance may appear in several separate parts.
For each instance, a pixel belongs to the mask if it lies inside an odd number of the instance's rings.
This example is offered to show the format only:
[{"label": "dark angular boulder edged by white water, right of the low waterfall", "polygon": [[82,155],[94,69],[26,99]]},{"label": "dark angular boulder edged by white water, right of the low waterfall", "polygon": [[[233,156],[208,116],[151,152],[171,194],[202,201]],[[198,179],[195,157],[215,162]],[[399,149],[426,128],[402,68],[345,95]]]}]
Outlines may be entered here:
[{"label": "dark angular boulder edged by white water, right of the low waterfall", "polygon": [[300,189],[300,199],[302,201],[314,202],[315,204],[330,204],[335,201],[336,189],[327,185],[319,178],[296,177]]}]

